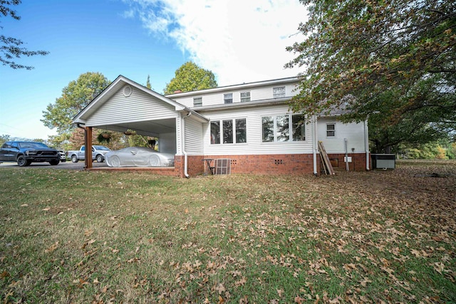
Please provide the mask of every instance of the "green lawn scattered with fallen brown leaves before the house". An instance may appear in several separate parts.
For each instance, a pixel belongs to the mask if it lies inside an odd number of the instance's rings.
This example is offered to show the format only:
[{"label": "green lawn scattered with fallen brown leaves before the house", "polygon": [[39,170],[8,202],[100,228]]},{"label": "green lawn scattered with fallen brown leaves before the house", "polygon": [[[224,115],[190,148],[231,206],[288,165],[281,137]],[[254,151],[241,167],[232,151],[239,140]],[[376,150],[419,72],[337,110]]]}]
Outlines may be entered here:
[{"label": "green lawn scattered with fallen brown leaves before the house", "polygon": [[456,162],[0,179],[4,303],[456,303]]}]

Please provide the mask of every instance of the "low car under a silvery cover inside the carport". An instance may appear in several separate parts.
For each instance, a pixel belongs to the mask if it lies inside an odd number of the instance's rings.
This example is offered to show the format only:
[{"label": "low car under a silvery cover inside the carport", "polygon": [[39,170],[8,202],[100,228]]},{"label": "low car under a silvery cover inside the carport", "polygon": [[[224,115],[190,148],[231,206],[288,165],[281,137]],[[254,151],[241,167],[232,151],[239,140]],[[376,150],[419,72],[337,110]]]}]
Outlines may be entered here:
[{"label": "low car under a silvery cover inside the carport", "polygon": [[128,147],[105,155],[109,167],[173,167],[174,154],[161,153],[148,147]]}]

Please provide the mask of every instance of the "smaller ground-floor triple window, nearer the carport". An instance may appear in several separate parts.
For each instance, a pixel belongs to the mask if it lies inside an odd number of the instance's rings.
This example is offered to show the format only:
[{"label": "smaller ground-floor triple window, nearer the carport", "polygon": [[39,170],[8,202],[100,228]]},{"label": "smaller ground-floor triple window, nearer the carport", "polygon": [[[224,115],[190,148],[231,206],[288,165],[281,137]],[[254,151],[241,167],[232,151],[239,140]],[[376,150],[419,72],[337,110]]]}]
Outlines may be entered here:
[{"label": "smaller ground-floor triple window, nearer the carport", "polygon": [[247,142],[245,118],[211,121],[211,144],[239,144]]}]

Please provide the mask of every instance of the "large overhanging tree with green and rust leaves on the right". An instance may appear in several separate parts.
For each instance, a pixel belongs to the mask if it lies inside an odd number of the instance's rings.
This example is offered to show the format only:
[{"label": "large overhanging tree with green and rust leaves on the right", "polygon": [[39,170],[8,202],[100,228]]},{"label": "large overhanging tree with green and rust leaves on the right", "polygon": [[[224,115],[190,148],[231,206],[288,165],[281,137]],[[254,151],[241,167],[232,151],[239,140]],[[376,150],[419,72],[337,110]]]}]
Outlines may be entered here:
[{"label": "large overhanging tree with green and rust leaves on the right", "polygon": [[294,111],[344,105],[344,120],[369,117],[381,137],[401,137],[384,147],[456,130],[455,1],[301,3],[309,10],[304,41],[287,48],[298,56],[286,67],[305,68]]}]

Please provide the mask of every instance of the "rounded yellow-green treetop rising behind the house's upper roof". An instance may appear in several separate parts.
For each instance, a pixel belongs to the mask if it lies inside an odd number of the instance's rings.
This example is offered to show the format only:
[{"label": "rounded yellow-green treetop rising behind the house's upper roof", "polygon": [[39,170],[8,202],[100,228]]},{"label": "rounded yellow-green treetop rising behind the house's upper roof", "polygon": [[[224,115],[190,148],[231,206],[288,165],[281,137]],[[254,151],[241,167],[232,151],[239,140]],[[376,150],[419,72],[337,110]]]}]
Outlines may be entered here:
[{"label": "rounded yellow-green treetop rising behind the house's upper roof", "polygon": [[214,73],[210,70],[199,68],[191,61],[184,63],[175,72],[175,78],[167,83],[165,94],[175,93],[176,90],[190,92],[192,90],[203,90],[217,88],[217,81]]}]

